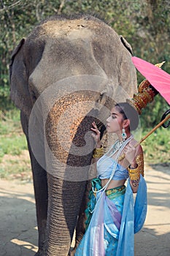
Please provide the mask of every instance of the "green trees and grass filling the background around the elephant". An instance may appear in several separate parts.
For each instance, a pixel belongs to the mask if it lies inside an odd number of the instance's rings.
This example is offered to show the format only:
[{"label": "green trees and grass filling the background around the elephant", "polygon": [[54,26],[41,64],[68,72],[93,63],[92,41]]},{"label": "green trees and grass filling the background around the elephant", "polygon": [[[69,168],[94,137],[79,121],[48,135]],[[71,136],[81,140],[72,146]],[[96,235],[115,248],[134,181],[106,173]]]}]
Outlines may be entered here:
[{"label": "green trees and grass filling the background around the elephant", "polygon": [[[9,99],[9,61],[21,38],[50,15],[90,13],[105,20],[117,34],[122,34],[134,49],[134,55],[152,64],[166,61],[163,69],[170,73],[170,1],[169,0],[0,0],[0,174],[15,172],[11,155],[26,151],[26,138],[20,127],[18,110]],[[144,78],[138,73],[139,83]],[[144,135],[169,108],[159,95],[142,112]],[[158,129],[144,143],[148,161],[169,162],[169,129]],[[20,172],[30,170],[28,162]],[[18,167],[16,167],[16,172]],[[5,174],[6,173],[6,174]]]}]

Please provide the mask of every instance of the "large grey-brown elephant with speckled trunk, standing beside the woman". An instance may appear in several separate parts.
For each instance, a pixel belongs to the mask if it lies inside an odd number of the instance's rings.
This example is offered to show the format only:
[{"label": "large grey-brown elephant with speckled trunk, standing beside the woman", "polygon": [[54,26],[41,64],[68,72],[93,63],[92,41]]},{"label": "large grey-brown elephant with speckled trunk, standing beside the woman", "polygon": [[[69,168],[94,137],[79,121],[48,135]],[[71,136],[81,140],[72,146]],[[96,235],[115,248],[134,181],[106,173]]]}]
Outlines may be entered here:
[{"label": "large grey-brown elephant with speckled trunk, standing beside the woman", "polygon": [[75,248],[85,232],[95,176],[91,123],[96,120],[104,135],[107,110],[136,93],[132,55],[123,36],[92,15],[42,20],[12,52],[10,97],[20,109],[31,159],[36,256],[74,255],[74,230]]}]

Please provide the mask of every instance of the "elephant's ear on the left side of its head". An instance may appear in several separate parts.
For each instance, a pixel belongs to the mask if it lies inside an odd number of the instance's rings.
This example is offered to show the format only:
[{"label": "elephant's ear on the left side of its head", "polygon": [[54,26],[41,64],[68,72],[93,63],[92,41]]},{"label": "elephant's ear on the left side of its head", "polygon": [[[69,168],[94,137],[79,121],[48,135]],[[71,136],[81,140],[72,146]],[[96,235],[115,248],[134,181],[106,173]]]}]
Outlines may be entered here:
[{"label": "elephant's ear on the left side of its head", "polygon": [[10,97],[16,107],[26,115],[31,111],[31,97],[28,91],[28,74],[23,48],[25,38],[21,39],[18,46],[13,50],[9,64]]}]

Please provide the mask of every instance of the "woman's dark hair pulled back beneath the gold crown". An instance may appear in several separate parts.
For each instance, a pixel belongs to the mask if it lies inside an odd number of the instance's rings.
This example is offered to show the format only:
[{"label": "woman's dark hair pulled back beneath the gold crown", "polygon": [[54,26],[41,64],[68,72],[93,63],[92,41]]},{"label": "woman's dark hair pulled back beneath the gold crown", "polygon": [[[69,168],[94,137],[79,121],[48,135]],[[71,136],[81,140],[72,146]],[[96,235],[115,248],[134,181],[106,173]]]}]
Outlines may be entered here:
[{"label": "woman's dark hair pulled back beneath the gold crown", "polygon": [[137,111],[128,102],[117,103],[115,108],[123,115],[124,120],[130,120],[130,129],[134,131],[139,125],[139,114]]}]

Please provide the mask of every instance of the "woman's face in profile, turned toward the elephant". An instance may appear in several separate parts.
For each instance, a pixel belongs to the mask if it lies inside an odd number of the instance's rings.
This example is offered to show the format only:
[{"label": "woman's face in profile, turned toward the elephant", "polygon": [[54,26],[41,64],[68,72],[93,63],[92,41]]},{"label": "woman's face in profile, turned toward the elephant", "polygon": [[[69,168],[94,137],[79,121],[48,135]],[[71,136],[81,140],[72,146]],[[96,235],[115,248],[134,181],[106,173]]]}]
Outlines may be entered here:
[{"label": "woman's face in profile, turned toward the elephant", "polygon": [[123,129],[123,121],[123,115],[118,112],[117,108],[112,108],[107,118],[107,132],[119,134]]}]

